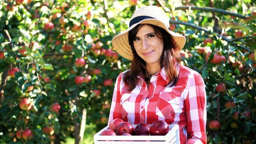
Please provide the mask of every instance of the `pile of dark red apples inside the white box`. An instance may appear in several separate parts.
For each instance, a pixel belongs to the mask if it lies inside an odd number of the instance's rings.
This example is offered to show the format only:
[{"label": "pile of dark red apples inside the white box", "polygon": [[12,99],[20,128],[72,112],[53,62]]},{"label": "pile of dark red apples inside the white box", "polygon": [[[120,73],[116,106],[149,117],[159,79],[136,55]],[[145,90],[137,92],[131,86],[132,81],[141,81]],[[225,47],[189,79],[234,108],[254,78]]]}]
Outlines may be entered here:
[{"label": "pile of dark red apples inside the white box", "polygon": [[146,123],[133,126],[116,118],[109,123],[109,128],[103,130],[100,135],[166,135],[169,132],[168,123],[165,121],[155,121],[150,126]]}]

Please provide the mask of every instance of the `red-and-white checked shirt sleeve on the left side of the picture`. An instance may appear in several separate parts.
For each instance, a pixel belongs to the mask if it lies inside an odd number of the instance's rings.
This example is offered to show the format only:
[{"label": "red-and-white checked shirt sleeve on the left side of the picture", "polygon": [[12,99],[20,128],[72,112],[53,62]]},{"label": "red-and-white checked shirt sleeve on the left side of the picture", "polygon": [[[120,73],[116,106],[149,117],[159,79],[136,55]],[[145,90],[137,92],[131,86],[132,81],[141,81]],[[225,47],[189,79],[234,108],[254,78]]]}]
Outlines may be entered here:
[{"label": "red-and-white checked shirt sleeve on the left side of the picture", "polygon": [[122,119],[121,105],[120,105],[120,99],[121,99],[120,82],[121,81],[122,81],[122,77],[121,77],[121,74],[119,74],[119,76],[116,79],[116,84],[115,84],[114,93],[112,97],[107,125],[109,125],[109,123],[115,118]]}]

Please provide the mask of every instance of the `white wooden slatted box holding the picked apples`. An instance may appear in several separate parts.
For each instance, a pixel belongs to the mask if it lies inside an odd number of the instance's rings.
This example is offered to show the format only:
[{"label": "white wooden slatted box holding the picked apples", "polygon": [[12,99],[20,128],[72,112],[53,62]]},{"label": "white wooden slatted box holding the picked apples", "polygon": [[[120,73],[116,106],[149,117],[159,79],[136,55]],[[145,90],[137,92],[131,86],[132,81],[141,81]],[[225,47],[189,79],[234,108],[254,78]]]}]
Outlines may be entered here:
[{"label": "white wooden slatted box holding the picked apples", "polygon": [[[136,125],[133,125],[135,128]],[[94,144],[179,144],[179,125],[169,125],[170,131],[166,135],[132,135],[132,136],[110,136],[100,135],[108,126],[97,132]]]}]

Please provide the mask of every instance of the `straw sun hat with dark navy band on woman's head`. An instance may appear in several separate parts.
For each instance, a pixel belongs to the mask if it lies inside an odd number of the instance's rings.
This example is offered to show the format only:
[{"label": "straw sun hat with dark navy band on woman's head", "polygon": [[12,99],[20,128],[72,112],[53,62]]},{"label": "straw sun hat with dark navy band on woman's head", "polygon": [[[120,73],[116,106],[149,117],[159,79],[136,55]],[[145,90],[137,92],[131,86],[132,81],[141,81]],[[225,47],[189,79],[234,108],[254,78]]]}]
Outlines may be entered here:
[{"label": "straw sun hat with dark navy band on woman's head", "polygon": [[129,28],[112,39],[114,49],[124,58],[133,60],[133,52],[128,42],[128,32],[142,23],[149,23],[165,29],[176,42],[177,51],[184,47],[186,38],[170,30],[169,18],[162,9],[157,6],[141,7],[131,17]]}]

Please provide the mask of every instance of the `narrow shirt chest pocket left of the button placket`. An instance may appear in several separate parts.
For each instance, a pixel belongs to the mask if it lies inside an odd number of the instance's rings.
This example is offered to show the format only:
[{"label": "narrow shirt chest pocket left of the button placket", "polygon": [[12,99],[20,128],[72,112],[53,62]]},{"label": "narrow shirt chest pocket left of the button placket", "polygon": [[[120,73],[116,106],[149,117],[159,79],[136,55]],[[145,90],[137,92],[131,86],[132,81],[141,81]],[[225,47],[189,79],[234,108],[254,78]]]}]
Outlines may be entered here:
[{"label": "narrow shirt chest pocket left of the button placket", "polygon": [[130,93],[125,93],[121,96],[120,105],[121,105],[122,119],[124,119],[128,115],[130,96],[131,96]]}]

